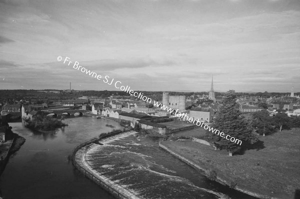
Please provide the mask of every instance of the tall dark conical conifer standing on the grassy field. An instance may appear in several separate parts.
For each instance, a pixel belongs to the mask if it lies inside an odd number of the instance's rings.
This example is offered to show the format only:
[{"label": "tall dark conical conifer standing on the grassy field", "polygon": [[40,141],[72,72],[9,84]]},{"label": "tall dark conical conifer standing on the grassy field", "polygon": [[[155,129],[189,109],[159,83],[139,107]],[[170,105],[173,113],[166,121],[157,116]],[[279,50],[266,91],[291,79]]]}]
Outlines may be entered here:
[{"label": "tall dark conical conifer standing on the grassy field", "polygon": [[225,135],[230,135],[235,139],[242,141],[241,145],[231,142],[225,136],[221,137],[215,133],[212,134],[213,143],[217,148],[226,149],[231,156],[235,152],[246,149],[249,144],[257,141],[258,134],[252,126],[252,122],[241,115],[236,102],[236,95],[233,91],[225,93],[223,105],[219,108],[212,126]]}]

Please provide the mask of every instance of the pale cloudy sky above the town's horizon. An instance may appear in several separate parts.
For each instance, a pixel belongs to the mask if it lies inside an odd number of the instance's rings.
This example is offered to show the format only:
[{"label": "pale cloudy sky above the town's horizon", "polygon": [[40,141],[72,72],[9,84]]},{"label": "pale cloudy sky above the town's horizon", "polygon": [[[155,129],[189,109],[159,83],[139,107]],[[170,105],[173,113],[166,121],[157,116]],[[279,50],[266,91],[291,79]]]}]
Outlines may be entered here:
[{"label": "pale cloudy sky above the town's horizon", "polygon": [[299,0],[0,0],[0,89],[300,91]]}]

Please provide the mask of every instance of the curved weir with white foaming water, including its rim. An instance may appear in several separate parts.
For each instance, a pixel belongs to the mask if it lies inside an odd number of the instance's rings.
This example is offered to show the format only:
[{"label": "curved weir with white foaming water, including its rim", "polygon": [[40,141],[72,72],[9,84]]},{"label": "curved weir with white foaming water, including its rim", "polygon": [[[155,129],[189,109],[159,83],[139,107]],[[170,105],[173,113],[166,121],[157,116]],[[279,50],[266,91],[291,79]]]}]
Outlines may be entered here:
[{"label": "curved weir with white foaming water, including its rim", "polygon": [[226,198],[193,184],[186,173],[204,176],[159,149],[156,141],[135,134],[125,131],[83,142],[74,149],[73,164],[117,198]]}]

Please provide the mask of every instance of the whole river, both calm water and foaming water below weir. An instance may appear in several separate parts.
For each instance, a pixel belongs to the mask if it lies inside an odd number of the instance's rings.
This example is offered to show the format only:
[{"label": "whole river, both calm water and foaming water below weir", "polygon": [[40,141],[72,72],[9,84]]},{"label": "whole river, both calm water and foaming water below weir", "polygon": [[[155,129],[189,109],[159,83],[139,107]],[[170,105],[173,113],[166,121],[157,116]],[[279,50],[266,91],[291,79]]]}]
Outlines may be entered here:
[{"label": "whole river, both calm water and foaming water below weir", "polygon": [[[35,134],[21,123],[9,123],[26,141],[10,156],[0,176],[4,198],[113,198],[75,170],[68,159],[74,146],[101,132],[120,129],[94,117],[65,119],[54,135]],[[115,128],[107,127],[111,124]],[[88,146],[87,166],[143,198],[254,198],[210,181],[158,147],[158,139],[117,135]],[[217,196],[219,195],[219,196]]]}]

